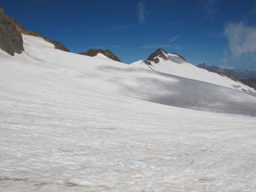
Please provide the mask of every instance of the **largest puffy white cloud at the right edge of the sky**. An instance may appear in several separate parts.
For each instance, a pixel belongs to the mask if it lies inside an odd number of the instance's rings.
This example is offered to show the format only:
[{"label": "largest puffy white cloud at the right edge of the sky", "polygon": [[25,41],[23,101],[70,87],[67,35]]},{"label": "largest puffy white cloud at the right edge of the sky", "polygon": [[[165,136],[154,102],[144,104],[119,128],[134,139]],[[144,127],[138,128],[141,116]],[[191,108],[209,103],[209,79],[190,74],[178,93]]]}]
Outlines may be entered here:
[{"label": "largest puffy white cloud at the right edge of the sky", "polygon": [[256,27],[246,26],[243,22],[229,23],[225,27],[229,48],[233,54],[256,53]]}]

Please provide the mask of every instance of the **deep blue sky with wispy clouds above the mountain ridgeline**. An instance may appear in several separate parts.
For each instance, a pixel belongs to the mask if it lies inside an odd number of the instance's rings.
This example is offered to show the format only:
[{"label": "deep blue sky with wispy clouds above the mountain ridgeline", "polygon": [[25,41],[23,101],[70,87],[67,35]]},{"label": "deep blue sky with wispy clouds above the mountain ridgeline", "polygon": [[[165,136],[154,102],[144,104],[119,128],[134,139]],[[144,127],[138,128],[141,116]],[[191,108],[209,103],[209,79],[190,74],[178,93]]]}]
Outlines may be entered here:
[{"label": "deep blue sky with wispy clouds above the mountain ridgeline", "polygon": [[74,53],[109,49],[130,64],[163,48],[194,65],[256,68],[256,0],[13,0],[0,7]]}]

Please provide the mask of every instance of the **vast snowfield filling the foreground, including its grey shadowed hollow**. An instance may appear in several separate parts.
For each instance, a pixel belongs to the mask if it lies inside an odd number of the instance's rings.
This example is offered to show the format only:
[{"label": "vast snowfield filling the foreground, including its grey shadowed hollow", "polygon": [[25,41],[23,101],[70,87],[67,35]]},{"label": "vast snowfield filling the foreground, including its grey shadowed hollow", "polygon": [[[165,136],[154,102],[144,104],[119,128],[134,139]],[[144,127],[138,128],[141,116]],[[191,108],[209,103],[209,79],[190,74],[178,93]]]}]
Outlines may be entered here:
[{"label": "vast snowfield filling the foreground, including its grey shadowed hollow", "polygon": [[1,192],[255,191],[255,96],[23,37],[0,50]]}]

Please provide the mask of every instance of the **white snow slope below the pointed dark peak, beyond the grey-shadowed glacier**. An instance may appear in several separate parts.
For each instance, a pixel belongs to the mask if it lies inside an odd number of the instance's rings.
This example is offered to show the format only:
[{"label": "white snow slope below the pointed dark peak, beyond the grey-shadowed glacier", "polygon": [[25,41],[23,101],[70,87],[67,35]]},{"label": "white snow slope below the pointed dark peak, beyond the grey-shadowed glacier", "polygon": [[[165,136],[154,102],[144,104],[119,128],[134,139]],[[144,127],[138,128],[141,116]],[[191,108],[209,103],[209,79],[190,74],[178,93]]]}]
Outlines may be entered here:
[{"label": "white snow slope below the pointed dark peak, beyond the grey-shadowed glacier", "polygon": [[160,61],[158,63],[154,63],[149,61],[151,65],[147,65],[143,60],[139,60],[130,64],[131,66],[136,66],[144,69],[155,70],[158,72],[163,72],[167,74],[172,74],[180,77],[190,78],[194,80],[199,80],[203,82],[208,82],[212,84],[217,84],[221,86],[225,86],[228,88],[234,88],[237,90],[246,90],[247,92],[256,93],[256,90],[246,86],[240,82],[235,82],[230,78],[221,76],[216,73],[209,72],[205,69],[198,68],[178,57],[176,54],[165,54],[162,52],[164,56],[168,58],[165,60],[159,56]]}]

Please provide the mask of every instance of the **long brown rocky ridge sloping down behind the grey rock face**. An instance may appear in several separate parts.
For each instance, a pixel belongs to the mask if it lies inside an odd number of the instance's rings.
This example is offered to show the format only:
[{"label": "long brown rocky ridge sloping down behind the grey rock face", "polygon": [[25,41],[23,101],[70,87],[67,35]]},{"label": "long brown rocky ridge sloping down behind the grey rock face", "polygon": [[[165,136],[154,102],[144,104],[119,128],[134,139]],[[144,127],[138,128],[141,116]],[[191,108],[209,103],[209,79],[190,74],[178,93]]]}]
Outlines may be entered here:
[{"label": "long brown rocky ridge sloping down behind the grey rock face", "polygon": [[[2,8],[1,9],[1,12],[4,10]],[[8,16],[5,14],[5,19],[8,18],[8,21],[12,24],[12,26],[15,26],[15,30],[20,34],[25,34],[25,35],[32,35],[32,36],[36,36],[36,37],[40,37],[40,38],[43,38],[44,40],[46,40],[47,42],[50,42],[52,44],[54,44],[55,48],[56,49],[59,49],[59,50],[62,50],[62,51],[66,51],[66,52],[70,52],[66,46],[64,46],[63,44],[61,44],[60,42],[57,42],[57,41],[52,41],[52,40],[49,40],[48,38],[46,38],[45,36],[39,34],[38,32],[32,32],[32,31],[28,31],[26,30],[26,28],[24,28],[21,24],[19,24],[16,20],[14,20],[14,18]],[[1,15],[1,19],[2,19],[2,15]],[[2,33],[1,33],[2,34]],[[21,35],[20,35],[21,36]],[[23,44],[23,41],[22,41],[22,44]],[[23,47],[23,46],[22,46]]]}]

